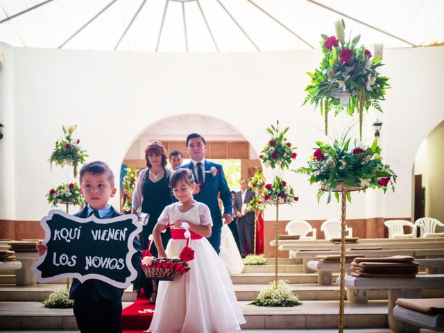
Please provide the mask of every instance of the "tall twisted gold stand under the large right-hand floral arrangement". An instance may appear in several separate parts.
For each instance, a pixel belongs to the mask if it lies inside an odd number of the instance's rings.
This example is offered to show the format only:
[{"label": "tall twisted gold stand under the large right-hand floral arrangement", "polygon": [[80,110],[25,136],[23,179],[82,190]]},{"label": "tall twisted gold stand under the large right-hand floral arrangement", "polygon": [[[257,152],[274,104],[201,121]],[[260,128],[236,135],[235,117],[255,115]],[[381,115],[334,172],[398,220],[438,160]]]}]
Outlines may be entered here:
[{"label": "tall twisted gold stand under the large right-hand floral arrangement", "polygon": [[[347,192],[360,191],[366,187],[348,187],[339,183],[332,191],[341,192],[341,273],[339,274],[339,333],[344,330],[344,299],[345,299],[345,216],[347,215]],[[323,191],[330,191],[329,188],[323,187]],[[277,232],[277,231],[276,231]],[[278,238],[276,237],[276,248],[278,246]]]}]

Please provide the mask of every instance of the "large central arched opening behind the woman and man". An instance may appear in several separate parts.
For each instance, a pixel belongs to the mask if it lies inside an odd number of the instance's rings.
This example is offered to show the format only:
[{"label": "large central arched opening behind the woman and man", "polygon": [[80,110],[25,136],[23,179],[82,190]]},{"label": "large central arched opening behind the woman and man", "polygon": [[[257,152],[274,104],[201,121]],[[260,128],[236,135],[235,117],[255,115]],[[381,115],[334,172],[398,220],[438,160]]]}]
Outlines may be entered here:
[{"label": "large central arched opening behind the woman and man", "polygon": [[[183,164],[188,163],[189,154],[185,140],[190,133],[199,133],[205,137],[207,147],[205,158],[223,165],[230,190],[239,191],[239,180],[241,178],[250,180],[256,170],[262,171],[258,154],[237,128],[214,117],[185,114],[157,121],[135,138],[122,161],[121,182],[127,167],[139,170],[146,168],[144,151],[151,141],[162,142],[167,150],[167,155],[171,151],[180,151],[184,159]],[[167,167],[170,167],[170,165],[168,164]],[[121,204],[123,203],[123,197],[124,194],[121,191]],[[236,228],[234,223],[230,225],[230,228]],[[264,245],[263,221],[260,226],[258,223],[259,228],[256,248],[260,249],[262,253]]]}]

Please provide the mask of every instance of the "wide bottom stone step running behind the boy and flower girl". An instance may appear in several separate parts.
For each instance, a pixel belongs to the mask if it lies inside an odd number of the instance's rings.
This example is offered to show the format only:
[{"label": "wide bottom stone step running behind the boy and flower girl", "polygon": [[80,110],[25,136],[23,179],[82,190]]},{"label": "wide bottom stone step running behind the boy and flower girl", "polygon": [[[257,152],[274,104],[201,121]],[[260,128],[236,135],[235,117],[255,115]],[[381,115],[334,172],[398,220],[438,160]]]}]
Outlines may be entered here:
[{"label": "wide bottom stone step running behind the boy and flower girl", "polygon": [[[123,302],[128,307],[131,302]],[[337,328],[339,302],[307,300],[298,307],[257,307],[239,302],[247,323],[243,329]],[[385,328],[387,302],[370,300],[367,304],[345,304],[344,327]],[[0,327],[3,330],[76,330],[72,309],[46,309],[40,302],[0,302]]]}]

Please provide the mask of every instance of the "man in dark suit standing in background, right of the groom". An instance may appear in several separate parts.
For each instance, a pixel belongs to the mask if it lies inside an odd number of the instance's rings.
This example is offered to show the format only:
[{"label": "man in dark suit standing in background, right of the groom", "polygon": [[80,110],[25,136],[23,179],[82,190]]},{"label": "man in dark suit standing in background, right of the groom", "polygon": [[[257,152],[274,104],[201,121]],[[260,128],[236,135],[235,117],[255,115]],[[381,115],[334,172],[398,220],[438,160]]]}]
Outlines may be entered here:
[{"label": "man in dark suit standing in background, right of the groom", "polygon": [[254,253],[254,235],[255,235],[255,212],[250,211],[246,204],[253,199],[254,194],[248,189],[248,181],[246,178],[241,179],[241,190],[236,193],[234,198],[234,214],[236,214],[237,234],[239,234],[239,244],[241,246],[241,257],[247,255],[248,252]]}]

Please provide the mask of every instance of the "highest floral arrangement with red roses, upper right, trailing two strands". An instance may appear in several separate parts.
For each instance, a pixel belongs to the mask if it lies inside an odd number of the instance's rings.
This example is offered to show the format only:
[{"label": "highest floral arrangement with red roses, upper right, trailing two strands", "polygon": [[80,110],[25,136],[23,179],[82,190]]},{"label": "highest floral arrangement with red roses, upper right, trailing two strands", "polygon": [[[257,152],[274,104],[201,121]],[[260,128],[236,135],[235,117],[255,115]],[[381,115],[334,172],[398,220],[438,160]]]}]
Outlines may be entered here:
[{"label": "highest floral arrangement with red roses, upper right, trailing two strands", "polygon": [[307,73],[311,83],[305,88],[305,103],[321,107],[325,117],[327,135],[328,112],[335,115],[346,110],[359,114],[359,135],[362,138],[362,117],[364,109],[373,106],[382,112],[379,101],[384,100],[389,87],[388,78],[379,74],[382,62],[373,58],[364,45],[359,45],[360,36],[345,41],[345,23],[336,22],[336,36],[322,35],[323,59],[314,73]]}]

